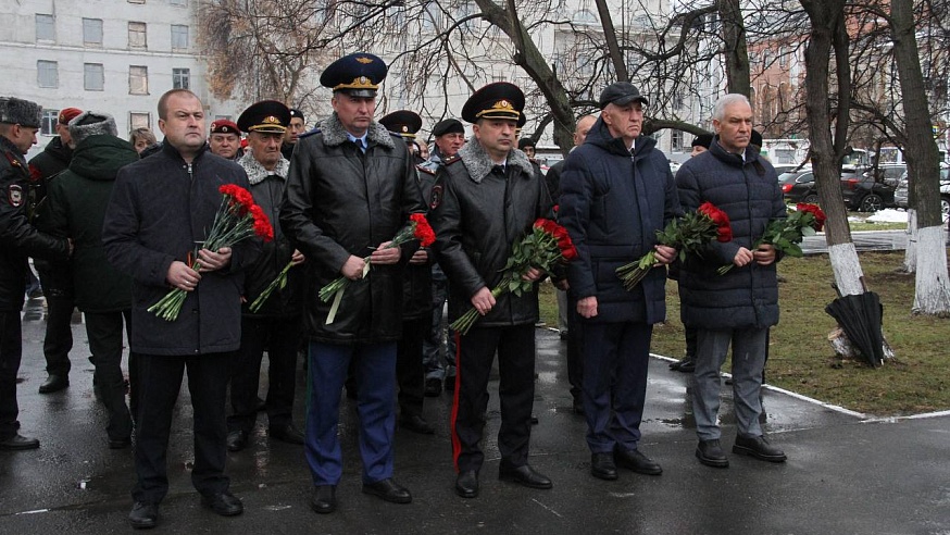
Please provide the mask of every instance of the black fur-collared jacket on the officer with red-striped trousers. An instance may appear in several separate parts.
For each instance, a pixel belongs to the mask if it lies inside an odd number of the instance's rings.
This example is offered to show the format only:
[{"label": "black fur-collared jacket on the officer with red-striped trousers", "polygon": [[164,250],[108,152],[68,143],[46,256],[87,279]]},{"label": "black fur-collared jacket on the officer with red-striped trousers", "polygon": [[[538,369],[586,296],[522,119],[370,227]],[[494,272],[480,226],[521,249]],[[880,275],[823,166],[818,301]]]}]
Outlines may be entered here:
[{"label": "black fur-collared jacket on the officer with red-striped trousers", "polygon": [[[538,217],[552,215],[548,188],[521,150],[509,153],[503,174],[474,139],[458,157],[439,169],[433,191],[434,248],[449,279],[449,321],[468,311],[482,287],[499,284],[514,244]],[[502,294],[475,328],[537,322],[536,289]]]}]

